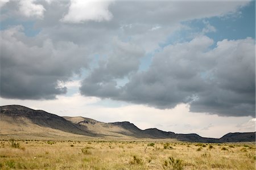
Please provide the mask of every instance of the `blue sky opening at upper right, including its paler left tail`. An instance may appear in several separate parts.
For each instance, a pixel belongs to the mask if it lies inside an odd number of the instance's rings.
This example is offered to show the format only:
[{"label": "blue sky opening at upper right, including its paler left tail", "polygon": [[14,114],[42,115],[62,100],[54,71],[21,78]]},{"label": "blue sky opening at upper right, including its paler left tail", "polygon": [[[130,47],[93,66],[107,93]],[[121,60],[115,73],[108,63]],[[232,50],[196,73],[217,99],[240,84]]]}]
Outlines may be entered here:
[{"label": "blue sky opening at upper right, including its paler left tail", "polygon": [[[189,20],[181,22],[181,24],[184,27],[167,36],[166,41],[159,44],[160,48],[190,41],[198,35],[205,35],[214,40],[214,44],[210,48],[214,48],[218,41],[224,39],[238,40],[247,37],[255,39],[255,1],[240,8],[236,14]],[[213,29],[206,31],[208,26]]]}]

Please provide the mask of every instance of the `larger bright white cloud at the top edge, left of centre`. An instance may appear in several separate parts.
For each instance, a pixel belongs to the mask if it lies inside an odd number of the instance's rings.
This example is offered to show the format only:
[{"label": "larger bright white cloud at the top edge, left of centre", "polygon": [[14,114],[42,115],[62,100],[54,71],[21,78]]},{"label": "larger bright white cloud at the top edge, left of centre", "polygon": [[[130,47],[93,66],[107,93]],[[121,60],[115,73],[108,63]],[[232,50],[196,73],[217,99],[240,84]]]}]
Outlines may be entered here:
[{"label": "larger bright white cloud at the top edge, left of centre", "polygon": [[112,1],[71,1],[68,14],[61,19],[67,23],[83,23],[89,20],[96,22],[111,20],[113,15],[108,10]]}]

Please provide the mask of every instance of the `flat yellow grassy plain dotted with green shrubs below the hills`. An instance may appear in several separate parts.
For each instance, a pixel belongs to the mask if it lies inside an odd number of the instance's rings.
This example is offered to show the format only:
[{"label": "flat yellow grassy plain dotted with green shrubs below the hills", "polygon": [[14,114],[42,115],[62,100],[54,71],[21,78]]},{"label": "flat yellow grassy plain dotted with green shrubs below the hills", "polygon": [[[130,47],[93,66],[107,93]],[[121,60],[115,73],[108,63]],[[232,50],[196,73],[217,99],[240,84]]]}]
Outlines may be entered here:
[{"label": "flat yellow grassy plain dotted with green shrubs below the hills", "polygon": [[255,169],[255,143],[2,140],[0,169]]}]

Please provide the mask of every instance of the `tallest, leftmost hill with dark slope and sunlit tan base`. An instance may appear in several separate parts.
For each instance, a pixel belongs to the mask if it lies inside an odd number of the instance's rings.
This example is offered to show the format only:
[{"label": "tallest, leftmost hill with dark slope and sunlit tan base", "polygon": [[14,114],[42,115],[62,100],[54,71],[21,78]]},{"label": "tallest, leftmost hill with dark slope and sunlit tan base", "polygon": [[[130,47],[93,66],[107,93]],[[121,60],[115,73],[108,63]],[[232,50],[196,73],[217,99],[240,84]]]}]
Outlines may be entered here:
[{"label": "tallest, leftmost hill with dark slope and sunlit tan base", "polygon": [[[2,127],[4,125],[5,127]],[[5,134],[8,134],[8,131],[10,131],[10,133],[20,133],[23,131],[23,133],[37,134],[36,129],[40,131],[42,128],[48,128],[71,134],[94,136],[90,131],[80,129],[76,124],[73,124],[56,114],[40,110],[36,111],[20,105],[7,105],[1,107],[0,127],[0,133]],[[44,133],[44,130],[42,133]]]}]

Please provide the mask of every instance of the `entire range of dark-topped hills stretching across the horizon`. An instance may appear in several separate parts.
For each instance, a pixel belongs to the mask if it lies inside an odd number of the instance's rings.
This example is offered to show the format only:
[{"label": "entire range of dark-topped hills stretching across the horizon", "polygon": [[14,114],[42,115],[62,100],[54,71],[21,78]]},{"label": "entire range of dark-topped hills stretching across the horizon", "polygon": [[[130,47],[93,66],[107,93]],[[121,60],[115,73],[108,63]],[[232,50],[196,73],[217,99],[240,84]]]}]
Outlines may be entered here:
[{"label": "entire range of dark-topped hills stretching across the horizon", "polygon": [[141,130],[130,122],[105,123],[85,117],[60,117],[45,111],[20,105],[2,106],[0,112],[0,137],[5,135],[70,137],[79,135],[97,138],[151,138],[177,139],[188,142],[255,142],[253,133],[228,133],[220,139],[203,138],[197,134],[176,134],[156,128]]}]

